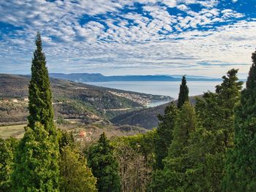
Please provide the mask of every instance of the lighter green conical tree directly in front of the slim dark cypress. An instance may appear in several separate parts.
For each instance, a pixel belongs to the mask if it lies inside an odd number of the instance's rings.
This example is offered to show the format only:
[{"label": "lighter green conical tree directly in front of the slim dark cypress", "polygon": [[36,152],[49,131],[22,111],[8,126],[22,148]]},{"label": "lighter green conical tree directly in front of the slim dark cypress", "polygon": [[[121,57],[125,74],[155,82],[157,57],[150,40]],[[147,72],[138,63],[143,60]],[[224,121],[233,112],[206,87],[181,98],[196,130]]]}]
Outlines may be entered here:
[{"label": "lighter green conical tree directly in front of the slim dark cypress", "polygon": [[167,157],[163,160],[165,167],[163,170],[154,172],[151,184],[154,191],[184,191],[185,172],[189,167],[187,147],[190,135],[196,127],[194,107],[186,101],[176,117],[173,141]]}]

